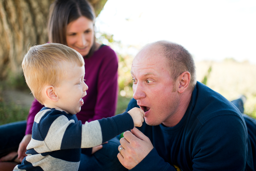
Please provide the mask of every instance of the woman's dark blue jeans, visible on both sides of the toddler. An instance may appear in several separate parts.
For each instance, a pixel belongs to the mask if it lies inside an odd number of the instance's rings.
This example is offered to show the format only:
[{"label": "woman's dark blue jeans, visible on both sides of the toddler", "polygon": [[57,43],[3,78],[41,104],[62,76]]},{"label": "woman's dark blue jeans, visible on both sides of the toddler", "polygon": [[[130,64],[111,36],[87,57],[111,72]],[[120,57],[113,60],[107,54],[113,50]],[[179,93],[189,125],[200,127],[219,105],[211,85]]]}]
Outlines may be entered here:
[{"label": "woman's dark blue jeans, visible on both sides of the toddler", "polygon": [[[7,155],[11,151],[17,151],[19,143],[25,136],[26,121],[14,122],[0,125],[0,158]],[[94,171],[123,171],[127,170],[119,162],[117,158],[119,139],[108,141],[103,144],[103,148],[98,150],[93,155],[88,156],[81,154],[79,171],[94,170]]]}]

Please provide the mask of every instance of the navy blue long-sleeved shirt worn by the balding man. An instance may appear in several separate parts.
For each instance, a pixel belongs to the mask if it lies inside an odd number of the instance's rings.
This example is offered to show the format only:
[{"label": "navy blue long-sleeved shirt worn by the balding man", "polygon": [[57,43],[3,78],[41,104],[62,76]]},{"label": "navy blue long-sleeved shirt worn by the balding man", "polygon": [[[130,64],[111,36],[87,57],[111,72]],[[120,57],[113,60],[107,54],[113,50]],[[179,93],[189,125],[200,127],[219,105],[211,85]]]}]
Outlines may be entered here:
[{"label": "navy blue long-sleeved shirt worn by the balding man", "polygon": [[[127,111],[138,107],[132,99]],[[197,82],[189,107],[173,127],[138,127],[154,149],[132,171],[254,170],[247,126],[239,110],[226,98]],[[250,144],[249,144],[250,145]]]}]

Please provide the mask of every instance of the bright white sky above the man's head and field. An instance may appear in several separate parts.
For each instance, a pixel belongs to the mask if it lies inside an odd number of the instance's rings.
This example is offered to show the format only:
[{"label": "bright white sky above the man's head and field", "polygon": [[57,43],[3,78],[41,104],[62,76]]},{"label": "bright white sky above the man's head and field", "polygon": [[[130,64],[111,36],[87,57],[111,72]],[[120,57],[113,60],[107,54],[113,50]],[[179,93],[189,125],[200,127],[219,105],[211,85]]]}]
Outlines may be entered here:
[{"label": "bright white sky above the man's head and field", "polygon": [[95,26],[124,46],[168,40],[195,61],[256,64],[255,0],[107,0]]}]

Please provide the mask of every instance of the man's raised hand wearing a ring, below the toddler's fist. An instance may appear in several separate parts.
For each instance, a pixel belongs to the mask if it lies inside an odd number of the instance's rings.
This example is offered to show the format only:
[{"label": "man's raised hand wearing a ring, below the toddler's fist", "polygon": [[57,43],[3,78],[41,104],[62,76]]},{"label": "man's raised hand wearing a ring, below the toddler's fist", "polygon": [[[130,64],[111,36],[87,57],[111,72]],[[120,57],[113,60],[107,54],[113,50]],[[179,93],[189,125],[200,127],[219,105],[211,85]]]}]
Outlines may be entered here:
[{"label": "man's raised hand wearing a ring, below the toddler's fist", "polygon": [[149,138],[135,127],[131,132],[124,132],[124,137],[120,139],[120,143],[118,150],[121,147],[123,149],[117,154],[117,158],[127,169],[134,168],[154,148]]}]

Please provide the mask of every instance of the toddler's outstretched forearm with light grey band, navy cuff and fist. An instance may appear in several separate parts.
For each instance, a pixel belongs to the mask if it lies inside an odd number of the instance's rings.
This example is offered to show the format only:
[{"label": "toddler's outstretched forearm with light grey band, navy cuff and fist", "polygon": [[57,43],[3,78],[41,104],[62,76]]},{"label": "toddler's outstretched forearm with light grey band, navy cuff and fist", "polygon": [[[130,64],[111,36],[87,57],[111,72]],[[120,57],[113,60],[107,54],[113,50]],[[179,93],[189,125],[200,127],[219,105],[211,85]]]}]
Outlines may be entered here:
[{"label": "toddler's outstretched forearm with light grey band, navy cuff and fist", "polygon": [[134,126],[141,126],[144,115],[140,108],[133,108],[129,113],[124,112],[113,117],[86,122],[82,126],[82,148],[102,144],[124,131],[133,129]]}]

